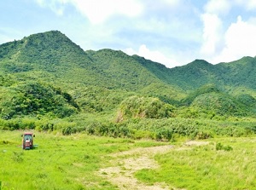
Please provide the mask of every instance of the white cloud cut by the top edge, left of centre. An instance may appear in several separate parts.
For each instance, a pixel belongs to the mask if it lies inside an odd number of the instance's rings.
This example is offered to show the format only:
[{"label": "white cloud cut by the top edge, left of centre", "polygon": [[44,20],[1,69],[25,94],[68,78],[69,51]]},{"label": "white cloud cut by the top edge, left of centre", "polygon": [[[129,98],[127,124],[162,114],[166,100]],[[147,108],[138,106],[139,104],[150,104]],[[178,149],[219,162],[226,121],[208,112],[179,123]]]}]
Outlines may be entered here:
[{"label": "white cloud cut by the top edge, left of centre", "polygon": [[134,17],[143,11],[143,5],[136,0],[36,0],[36,2],[59,15],[63,14],[67,3],[72,4],[92,24],[100,24],[115,14]]}]

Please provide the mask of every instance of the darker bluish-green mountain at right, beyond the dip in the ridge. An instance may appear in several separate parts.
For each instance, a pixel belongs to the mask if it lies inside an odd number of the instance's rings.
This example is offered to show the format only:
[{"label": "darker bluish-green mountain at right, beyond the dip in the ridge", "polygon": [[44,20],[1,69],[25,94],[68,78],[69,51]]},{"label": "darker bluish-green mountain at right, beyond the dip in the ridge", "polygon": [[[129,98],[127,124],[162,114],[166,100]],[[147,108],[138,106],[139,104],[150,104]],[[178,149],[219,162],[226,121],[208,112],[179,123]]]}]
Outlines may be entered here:
[{"label": "darker bluish-green mountain at right, beyond the dip in the ridge", "polygon": [[218,88],[239,86],[256,89],[256,58],[244,57],[230,63],[211,65],[205,60],[194,60],[185,66],[172,68],[170,83],[177,83],[185,90],[215,83]]}]

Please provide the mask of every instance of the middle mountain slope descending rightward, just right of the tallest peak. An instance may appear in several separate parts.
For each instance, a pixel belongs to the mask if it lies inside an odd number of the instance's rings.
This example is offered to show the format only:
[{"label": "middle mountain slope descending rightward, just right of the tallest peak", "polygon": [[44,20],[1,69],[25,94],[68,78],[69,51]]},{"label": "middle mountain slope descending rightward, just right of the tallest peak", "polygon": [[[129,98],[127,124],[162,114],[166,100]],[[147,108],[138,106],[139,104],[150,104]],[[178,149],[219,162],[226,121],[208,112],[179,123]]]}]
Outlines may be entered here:
[{"label": "middle mountain slope descending rightward, just right of the tallest peak", "polygon": [[[104,81],[108,81],[108,84],[104,83],[108,89],[125,89],[144,95],[166,96],[168,100],[179,100],[183,97],[183,91],[179,87],[161,80],[154,72],[142,66],[134,56],[112,49],[90,50],[86,53],[94,63],[92,68],[102,73],[105,77]],[[154,65],[160,64],[154,63]],[[163,86],[165,89],[160,90]]]}]

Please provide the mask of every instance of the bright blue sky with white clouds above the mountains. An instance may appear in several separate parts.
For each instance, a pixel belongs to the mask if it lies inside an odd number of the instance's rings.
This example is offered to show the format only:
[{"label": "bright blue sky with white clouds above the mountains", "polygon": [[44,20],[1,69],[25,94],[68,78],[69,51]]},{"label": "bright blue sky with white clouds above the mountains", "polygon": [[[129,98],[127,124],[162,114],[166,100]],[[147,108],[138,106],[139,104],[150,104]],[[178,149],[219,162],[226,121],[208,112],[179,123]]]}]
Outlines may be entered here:
[{"label": "bright blue sky with white clouds above the mountains", "polygon": [[0,9],[0,43],[58,30],[84,50],[167,67],[256,55],[256,0],[8,0]]}]

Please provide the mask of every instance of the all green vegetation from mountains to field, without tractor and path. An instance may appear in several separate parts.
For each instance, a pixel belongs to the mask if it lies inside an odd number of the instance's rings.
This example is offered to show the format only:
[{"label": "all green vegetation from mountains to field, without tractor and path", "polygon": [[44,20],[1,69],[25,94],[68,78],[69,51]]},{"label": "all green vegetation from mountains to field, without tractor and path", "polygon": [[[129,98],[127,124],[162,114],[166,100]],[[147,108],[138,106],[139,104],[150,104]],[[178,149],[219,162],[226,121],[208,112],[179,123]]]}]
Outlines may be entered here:
[{"label": "all green vegetation from mountains to field, without tractor and path", "polygon": [[[0,188],[115,189],[95,175],[109,153],[183,139],[212,143],[156,155],[160,169],[137,178],[186,189],[253,188],[255,63],[166,68],[112,49],[84,51],[57,31],[3,43]],[[37,131],[39,148],[21,151],[18,130]],[[137,142],[144,139],[154,141]]]}]

